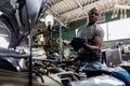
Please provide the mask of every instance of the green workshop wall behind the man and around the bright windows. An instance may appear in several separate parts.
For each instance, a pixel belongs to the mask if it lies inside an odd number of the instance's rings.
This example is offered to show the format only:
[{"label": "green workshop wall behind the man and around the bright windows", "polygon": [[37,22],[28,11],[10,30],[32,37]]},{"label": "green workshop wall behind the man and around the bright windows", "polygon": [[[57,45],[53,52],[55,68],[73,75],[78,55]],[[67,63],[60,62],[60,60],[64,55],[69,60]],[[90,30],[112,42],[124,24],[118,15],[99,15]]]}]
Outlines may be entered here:
[{"label": "green workshop wall behind the man and around the bright windows", "polygon": [[[115,20],[115,19],[119,19],[119,18],[120,18],[120,12],[118,13],[118,16],[115,17],[115,18],[112,18],[112,14],[113,14],[113,12],[107,12],[107,13],[105,13],[105,14],[104,14],[104,15],[105,15],[105,17],[104,17],[104,18],[105,18],[105,22],[103,22],[103,23],[106,23],[106,22],[110,22],[110,20]],[[130,10],[127,10],[127,16],[130,17]],[[86,24],[86,18],[84,18],[84,19],[81,19],[81,20],[78,20],[78,22],[74,22],[74,23],[68,24],[68,25],[67,25],[67,28],[62,27],[62,38],[63,38],[64,40],[72,40],[72,39],[76,35],[75,29],[79,28],[80,26],[82,26],[82,25],[84,25],[84,24]],[[58,44],[56,43],[56,39],[58,38],[58,28],[60,28],[58,26],[55,27],[55,30],[53,31],[53,37],[54,37],[53,44],[54,44],[54,46],[55,46],[55,45],[58,45]],[[47,31],[43,32],[43,34],[44,34],[46,37],[49,37]],[[127,40],[127,41],[128,41],[128,40]],[[125,43],[127,43],[127,42],[125,41]],[[113,47],[113,46],[115,46],[115,44],[116,44],[116,41],[107,41],[107,42],[104,42],[104,46],[105,46],[105,47]]]}]

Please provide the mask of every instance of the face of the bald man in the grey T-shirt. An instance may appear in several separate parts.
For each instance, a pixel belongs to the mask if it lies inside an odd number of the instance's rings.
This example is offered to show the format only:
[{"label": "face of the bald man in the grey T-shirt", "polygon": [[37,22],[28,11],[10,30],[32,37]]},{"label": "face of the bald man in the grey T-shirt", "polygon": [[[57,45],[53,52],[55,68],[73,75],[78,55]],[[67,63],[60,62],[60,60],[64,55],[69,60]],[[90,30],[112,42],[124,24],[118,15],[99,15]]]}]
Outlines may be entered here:
[{"label": "face of the bald man in the grey T-shirt", "polygon": [[99,17],[100,17],[100,12],[98,10],[92,10],[92,11],[89,12],[90,24],[96,23]]}]

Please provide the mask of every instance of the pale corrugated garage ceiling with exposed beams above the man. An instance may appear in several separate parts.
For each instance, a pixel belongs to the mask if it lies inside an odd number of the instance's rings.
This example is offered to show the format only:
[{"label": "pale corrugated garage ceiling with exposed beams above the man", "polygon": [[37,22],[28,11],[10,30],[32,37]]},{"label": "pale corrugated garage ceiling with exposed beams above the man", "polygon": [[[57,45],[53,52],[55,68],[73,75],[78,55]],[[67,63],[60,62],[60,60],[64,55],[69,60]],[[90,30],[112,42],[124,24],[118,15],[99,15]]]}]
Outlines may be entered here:
[{"label": "pale corrugated garage ceiling with exposed beams above the man", "polygon": [[[86,18],[92,8],[98,8],[103,13],[113,11],[115,15],[120,10],[130,10],[130,0],[48,0],[46,13],[52,14],[55,20],[66,25]],[[39,23],[36,30],[43,27],[43,23]]]}]

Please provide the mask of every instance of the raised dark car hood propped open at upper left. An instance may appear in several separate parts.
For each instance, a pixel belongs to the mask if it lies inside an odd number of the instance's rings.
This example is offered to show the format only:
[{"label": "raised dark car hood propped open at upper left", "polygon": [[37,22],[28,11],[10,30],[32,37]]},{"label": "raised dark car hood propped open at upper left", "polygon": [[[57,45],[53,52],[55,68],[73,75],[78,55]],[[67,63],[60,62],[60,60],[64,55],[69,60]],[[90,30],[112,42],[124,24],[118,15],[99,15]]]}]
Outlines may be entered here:
[{"label": "raised dark car hood propped open at upper left", "polygon": [[0,37],[16,47],[44,13],[47,0],[0,0]]}]

